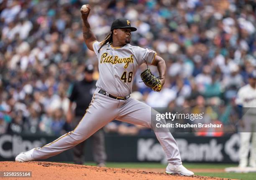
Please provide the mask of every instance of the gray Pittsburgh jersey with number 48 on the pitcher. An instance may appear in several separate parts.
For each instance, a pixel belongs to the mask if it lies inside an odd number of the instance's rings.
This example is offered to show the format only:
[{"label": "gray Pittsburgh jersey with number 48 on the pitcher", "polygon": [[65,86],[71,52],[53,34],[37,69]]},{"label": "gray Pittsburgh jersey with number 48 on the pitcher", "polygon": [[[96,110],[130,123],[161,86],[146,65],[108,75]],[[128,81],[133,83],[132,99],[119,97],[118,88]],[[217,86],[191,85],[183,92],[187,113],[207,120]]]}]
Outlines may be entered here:
[{"label": "gray Pittsburgh jersey with number 48 on the pitcher", "polygon": [[96,86],[113,96],[131,94],[133,77],[138,67],[145,61],[151,65],[156,52],[126,44],[123,47],[113,47],[107,44],[100,49],[100,42],[93,43],[93,50],[99,61],[100,78]]}]

